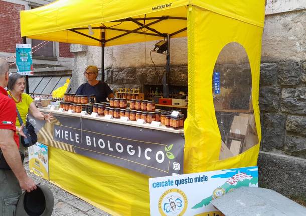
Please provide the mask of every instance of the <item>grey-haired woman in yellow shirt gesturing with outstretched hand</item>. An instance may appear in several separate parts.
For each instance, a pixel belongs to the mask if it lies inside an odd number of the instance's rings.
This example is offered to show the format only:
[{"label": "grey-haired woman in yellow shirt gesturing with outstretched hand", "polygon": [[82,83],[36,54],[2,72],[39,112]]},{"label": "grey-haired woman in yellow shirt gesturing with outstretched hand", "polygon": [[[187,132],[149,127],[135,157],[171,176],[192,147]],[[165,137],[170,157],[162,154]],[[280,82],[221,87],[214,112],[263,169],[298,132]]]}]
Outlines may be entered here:
[{"label": "grey-haired woman in yellow shirt gesturing with outstretched hand", "polygon": [[[24,93],[25,86],[26,80],[22,75],[15,73],[9,76],[8,94],[15,101],[16,108],[18,109],[20,117],[23,120],[24,124],[26,124],[26,117],[29,111],[34,118],[50,122],[50,120],[53,119],[52,114],[49,113],[46,115],[36,108],[31,96]],[[18,117],[16,118],[16,127],[20,127]]]}]

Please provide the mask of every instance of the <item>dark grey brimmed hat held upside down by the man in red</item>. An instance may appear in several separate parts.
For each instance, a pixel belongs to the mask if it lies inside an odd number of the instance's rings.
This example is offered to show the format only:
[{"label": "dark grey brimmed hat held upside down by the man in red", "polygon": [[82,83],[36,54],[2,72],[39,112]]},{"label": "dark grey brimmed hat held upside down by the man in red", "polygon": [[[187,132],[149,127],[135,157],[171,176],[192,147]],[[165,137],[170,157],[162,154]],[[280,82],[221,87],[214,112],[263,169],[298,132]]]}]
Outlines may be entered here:
[{"label": "dark grey brimmed hat held upside down by the man in red", "polygon": [[51,216],[54,198],[49,187],[37,185],[37,189],[25,191],[19,198],[15,216]]}]

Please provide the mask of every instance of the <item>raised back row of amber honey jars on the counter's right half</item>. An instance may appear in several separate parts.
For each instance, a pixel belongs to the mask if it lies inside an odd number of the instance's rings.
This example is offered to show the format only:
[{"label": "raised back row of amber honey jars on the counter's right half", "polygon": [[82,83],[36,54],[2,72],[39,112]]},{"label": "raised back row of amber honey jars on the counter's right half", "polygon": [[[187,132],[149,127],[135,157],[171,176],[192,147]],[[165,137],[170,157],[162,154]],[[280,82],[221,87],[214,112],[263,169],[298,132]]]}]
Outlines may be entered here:
[{"label": "raised back row of amber honey jars on the counter's right half", "polygon": [[[109,100],[110,107],[125,109],[127,107],[126,98],[110,98]],[[130,100],[129,108],[131,110],[141,110],[153,112],[155,111],[155,102],[148,100]]]}]

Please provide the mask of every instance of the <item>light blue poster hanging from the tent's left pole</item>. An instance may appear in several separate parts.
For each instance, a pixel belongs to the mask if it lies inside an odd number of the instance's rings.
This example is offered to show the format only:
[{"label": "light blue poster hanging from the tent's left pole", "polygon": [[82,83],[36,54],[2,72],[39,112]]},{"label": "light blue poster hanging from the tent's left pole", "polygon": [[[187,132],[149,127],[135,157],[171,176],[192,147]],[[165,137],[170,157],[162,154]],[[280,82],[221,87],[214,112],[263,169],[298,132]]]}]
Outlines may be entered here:
[{"label": "light blue poster hanging from the tent's left pole", "polygon": [[16,68],[21,75],[34,75],[31,44],[16,44]]}]

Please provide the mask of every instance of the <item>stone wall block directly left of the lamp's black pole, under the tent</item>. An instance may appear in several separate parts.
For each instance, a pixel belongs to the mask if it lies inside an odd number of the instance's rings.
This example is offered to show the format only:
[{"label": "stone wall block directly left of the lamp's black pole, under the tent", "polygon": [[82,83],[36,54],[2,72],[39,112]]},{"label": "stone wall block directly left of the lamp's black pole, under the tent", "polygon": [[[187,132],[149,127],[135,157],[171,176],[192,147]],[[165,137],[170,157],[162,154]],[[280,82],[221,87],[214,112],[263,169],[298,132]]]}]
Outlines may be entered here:
[{"label": "stone wall block directly left of the lamp's black pole, under the tent", "polygon": [[136,79],[138,84],[146,85],[162,85],[163,73],[166,71],[165,67],[145,67],[136,68]]}]

